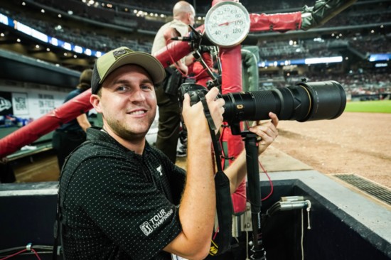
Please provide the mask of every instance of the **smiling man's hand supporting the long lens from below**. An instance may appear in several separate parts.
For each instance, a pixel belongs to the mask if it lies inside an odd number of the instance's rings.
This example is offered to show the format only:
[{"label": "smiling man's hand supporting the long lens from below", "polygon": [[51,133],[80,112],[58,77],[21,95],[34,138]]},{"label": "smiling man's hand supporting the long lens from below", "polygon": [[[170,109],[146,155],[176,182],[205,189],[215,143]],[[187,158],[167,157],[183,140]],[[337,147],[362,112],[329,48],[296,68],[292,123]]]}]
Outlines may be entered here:
[{"label": "smiling man's hand supporting the long lens from below", "polygon": [[277,115],[272,112],[269,112],[269,117],[272,119],[271,121],[264,123],[257,121],[256,124],[253,124],[249,129],[252,133],[259,136],[259,154],[266,150],[267,146],[269,146],[278,136],[277,125],[279,119],[277,118]]}]

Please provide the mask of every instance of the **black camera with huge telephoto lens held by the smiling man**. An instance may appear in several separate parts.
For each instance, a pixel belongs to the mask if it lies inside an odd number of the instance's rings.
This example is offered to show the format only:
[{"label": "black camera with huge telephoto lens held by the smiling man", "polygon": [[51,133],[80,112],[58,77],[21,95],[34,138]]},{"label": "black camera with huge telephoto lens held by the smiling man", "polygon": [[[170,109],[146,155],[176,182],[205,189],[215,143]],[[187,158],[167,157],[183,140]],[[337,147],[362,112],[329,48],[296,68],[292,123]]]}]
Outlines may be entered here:
[{"label": "black camera with huge telephoto lens held by the smiling man", "polygon": [[[191,104],[200,101],[199,92],[208,89],[193,83],[183,83],[178,89],[180,104],[188,93]],[[279,120],[300,122],[336,119],[346,107],[346,93],[336,81],[302,82],[294,86],[253,92],[219,94],[225,100],[223,121],[231,126],[232,134],[240,134],[240,121],[269,119],[269,112]]]}]

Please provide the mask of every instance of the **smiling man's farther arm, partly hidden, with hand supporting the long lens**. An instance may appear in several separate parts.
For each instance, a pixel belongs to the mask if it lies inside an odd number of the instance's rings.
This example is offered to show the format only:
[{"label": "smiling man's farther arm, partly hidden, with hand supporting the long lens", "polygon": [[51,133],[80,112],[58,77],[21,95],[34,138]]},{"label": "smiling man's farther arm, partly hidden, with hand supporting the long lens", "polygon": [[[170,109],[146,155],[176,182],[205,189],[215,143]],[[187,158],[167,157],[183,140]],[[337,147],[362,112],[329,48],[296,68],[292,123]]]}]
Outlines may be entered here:
[{"label": "smiling man's farther arm, partly hidden, with hand supporting the long lens", "polygon": [[[277,118],[277,115],[272,112],[269,113],[269,117],[272,119],[271,121],[262,124],[258,123],[251,126],[249,129],[252,133],[257,134],[257,136],[261,138],[261,141],[258,142],[258,154],[263,153],[278,136],[277,125],[279,119]],[[247,174],[245,150],[237,156],[235,161],[233,161],[224,172],[230,179],[231,193],[234,193],[237,186],[242,183],[242,180]]]}]

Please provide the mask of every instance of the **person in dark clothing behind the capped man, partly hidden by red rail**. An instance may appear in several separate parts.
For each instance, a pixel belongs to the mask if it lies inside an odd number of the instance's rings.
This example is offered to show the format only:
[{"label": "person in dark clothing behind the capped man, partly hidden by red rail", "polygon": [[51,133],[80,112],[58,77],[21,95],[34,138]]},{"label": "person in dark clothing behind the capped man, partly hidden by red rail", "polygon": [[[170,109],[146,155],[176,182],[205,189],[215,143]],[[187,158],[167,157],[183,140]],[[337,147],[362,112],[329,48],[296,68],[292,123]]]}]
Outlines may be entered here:
[{"label": "person in dark clothing behind the capped man, partly hidden by red rail", "polygon": [[[92,70],[84,70],[82,74],[80,74],[79,84],[76,86],[76,89],[65,97],[64,103],[82,92],[85,92],[85,90],[90,89],[91,77]],[[91,127],[90,121],[88,121],[87,115],[83,113],[76,119],[63,124],[54,131],[52,143],[53,149],[57,154],[58,168],[60,168],[60,170],[63,167],[65,158],[70,152],[85,141],[85,131],[88,127]]]}]

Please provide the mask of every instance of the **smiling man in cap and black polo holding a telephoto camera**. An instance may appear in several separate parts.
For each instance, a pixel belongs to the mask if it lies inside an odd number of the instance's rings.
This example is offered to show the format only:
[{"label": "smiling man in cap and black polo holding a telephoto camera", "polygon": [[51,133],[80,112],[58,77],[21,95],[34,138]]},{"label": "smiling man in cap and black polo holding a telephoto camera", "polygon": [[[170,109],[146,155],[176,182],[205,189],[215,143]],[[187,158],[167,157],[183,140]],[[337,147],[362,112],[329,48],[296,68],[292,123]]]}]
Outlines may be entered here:
[{"label": "smiling man in cap and black polo holding a telephoto camera", "polygon": [[[164,68],[148,53],[126,47],[95,63],[90,102],[103,128],[65,163],[60,220],[65,259],[186,259],[208,255],[215,220],[211,137],[203,104],[183,101],[188,129],[187,173],[146,142],[156,115],[154,85]],[[205,95],[216,126],[223,121],[218,89]],[[259,153],[277,137],[278,119],[250,129],[262,138]],[[245,177],[243,153],[227,169],[231,190]]]}]

